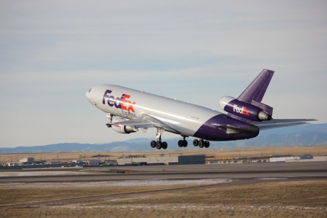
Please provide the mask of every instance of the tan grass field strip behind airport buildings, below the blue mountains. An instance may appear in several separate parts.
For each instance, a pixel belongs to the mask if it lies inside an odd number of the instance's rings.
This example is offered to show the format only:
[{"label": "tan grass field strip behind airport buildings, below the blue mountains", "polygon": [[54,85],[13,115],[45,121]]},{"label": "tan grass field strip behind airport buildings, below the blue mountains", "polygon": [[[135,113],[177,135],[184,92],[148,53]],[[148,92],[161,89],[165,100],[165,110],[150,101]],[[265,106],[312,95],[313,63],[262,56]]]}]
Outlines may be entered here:
[{"label": "tan grass field strip behind airport buildings, below the blue mountains", "polygon": [[[190,145],[191,146],[191,145]],[[324,146],[300,146],[300,147],[253,147],[243,149],[184,149],[184,150],[156,150],[142,151],[142,152],[62,152],[62,153],[42,153],[42,154],[8,154],[1,155],[1,162],[17,162],[17,160],[24,157],[34,157],[35,160],[47,161],[63,161],[69,162],[77,160],[82,157],[82,160],[93,160],[92,156],[109,155],[110,160],[117,160],[121,156],[129,155],[146,155],[146,156],[160,156],[160,155],[206,155],[214,156],[216,158],[240,158],[240,157],[265,157],[270,155],[294,155],[299,156],[303,154],[311,154],[314,156],[327,156],[327,145]],[[96,158],[97,159],[97,158]],[[105,158],[101,158],[105,160]],[[106,158],[108,160],[108,157]]]}]

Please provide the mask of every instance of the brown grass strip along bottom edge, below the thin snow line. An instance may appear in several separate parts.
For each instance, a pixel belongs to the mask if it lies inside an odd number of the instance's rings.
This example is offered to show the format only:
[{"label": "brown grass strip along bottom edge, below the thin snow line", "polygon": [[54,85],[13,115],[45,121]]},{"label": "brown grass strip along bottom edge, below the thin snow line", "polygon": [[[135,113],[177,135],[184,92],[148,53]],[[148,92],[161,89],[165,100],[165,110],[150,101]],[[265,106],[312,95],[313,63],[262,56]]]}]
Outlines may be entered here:
[{"label": "brown grass strip along bottom edge, below the thin snow line", "polygon": [[0,217],[326,217],[322,210],[164,210],[164,209],[53,209],[53,208],[19,208],[1,211]]}]

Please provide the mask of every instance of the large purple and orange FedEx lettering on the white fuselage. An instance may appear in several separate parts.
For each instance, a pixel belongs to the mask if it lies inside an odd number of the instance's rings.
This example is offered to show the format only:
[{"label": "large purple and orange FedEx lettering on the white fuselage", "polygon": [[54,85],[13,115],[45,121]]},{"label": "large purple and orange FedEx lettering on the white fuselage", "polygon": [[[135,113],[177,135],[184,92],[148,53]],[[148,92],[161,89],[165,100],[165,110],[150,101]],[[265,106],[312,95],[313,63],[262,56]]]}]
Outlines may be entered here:
[{"label": "large purple and orange FedEx lettering on the white fuselage", "polygon": [[122,110],[135,112],[133,106],[136,102],[131,102],[127,100],[131,97],[130,95],[123,94],[121,97],[115,98],[114,96],[109,95],[111,92],[111,90],[106,90],[102,98],[103,104],[106,104],[107,101],[110,107],[115,106],[116,108],[121,108]]}]

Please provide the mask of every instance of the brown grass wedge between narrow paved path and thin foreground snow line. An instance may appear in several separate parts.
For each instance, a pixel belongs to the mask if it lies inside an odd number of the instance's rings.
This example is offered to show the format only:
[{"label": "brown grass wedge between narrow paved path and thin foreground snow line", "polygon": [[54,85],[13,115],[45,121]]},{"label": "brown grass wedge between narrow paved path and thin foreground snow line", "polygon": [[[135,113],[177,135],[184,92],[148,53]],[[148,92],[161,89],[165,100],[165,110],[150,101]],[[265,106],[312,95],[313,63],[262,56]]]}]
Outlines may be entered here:
[{"label": "brown grass wedge between narrow paved path and thin foreground snow line", "polygon": [[[201,190],[160,193],[158,195],[122,198],[110,202],[111,205],[151,205],[161,202],[163,205],[194,204],[198,206],[228,205],[245,206],[299,206],[323,207],[327,209],[327,181],[269,182],[251,185],[236,185]],[[137,201],[136,201],[137,199]],[[158,200],[159,199],[159,200]],[[88,205],[107,205],[108,202],[94,202]]]}]

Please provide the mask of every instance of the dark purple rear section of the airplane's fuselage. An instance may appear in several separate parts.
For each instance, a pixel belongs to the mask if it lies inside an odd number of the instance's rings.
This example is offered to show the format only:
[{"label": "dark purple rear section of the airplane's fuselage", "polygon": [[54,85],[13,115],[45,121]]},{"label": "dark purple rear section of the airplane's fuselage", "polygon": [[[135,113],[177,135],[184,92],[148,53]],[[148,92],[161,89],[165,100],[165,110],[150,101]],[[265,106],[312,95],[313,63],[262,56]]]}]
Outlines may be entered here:
[{"label": "dark purple rear section of the airplane's fuselage", "polygon": [[[213,125],[216,124],[216,125]],[[217,126],[218,125],[218,126]],[[221,127],[219,126],[221,125]],[[225,126],[236,127],[240,129],[239,133],[231,133],[226,131]],[[229,132],[229,134],[227,134]],[[259,135],[258,126],[242,122],[227,116],[226,114],[219,114],[206,121],[194,134],[194,137],[205,139],[209,141],[229,141],[250,139]]]}]

